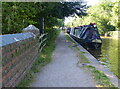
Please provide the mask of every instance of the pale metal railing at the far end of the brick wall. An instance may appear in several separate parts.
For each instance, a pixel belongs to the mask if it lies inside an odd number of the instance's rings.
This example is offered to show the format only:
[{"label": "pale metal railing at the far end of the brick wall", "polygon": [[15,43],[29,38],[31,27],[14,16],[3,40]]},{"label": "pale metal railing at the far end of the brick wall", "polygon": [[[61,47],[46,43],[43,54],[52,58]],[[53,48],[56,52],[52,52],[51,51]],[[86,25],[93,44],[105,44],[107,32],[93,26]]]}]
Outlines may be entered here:
[{"label": "pale metal railing at the far end of the brick wall", "polygon": [[48,33],[44,33],[39,37],[39,50],[38,50],[38,52],[41,52],[42,49],[45,47],[47,35],[48,35]]}]

